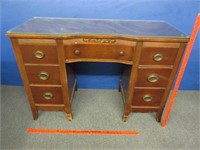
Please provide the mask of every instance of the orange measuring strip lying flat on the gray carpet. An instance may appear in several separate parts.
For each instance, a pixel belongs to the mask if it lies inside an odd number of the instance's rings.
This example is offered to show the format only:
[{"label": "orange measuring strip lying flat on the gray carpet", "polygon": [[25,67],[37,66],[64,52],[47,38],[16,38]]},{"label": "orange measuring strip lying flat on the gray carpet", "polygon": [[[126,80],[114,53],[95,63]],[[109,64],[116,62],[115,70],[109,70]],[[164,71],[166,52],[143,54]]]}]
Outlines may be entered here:
[{"label": "orange measuring strip lying flat on the gray carpet", "polygon": [[27,129],[27,133],[139,135],[137,131]]}]

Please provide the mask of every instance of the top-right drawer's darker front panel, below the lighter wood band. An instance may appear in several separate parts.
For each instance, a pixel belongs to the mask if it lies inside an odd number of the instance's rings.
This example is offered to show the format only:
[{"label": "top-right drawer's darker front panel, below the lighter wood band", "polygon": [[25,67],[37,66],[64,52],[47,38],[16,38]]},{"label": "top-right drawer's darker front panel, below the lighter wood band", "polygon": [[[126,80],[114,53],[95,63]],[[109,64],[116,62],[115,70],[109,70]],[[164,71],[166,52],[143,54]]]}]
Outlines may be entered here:
[{"label": "top-right drawer's darker front panel, below the lighter wood band", "polygon": [[139,65],[173,65],[177,48],[143,48]]}]

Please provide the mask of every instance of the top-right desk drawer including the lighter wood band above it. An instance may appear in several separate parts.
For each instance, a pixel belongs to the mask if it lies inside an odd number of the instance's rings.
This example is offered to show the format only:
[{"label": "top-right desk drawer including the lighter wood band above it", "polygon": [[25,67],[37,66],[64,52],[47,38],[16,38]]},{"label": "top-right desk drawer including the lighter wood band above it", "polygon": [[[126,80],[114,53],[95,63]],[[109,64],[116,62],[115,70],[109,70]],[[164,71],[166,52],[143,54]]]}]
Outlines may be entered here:
[{"label": "top-right desk drawer including the lighter wood band above it", "polygon": [[173,65],[179,43],[144,42],[140,65]]}]

